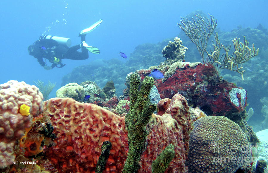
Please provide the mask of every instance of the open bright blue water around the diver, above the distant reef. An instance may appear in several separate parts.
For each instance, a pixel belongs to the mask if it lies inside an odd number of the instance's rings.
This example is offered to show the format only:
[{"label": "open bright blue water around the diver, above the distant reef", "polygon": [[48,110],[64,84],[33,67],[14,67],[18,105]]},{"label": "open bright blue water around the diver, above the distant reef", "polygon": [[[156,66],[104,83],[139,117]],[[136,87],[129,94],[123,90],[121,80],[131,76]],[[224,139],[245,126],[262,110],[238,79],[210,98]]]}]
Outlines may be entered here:
[{"label": "open bright blue water around the diver, above the distant reef", "polygon": [[[174,38],[180,32],[177,22],[194,10],[214,15],[218,28],[230,31],[238,25],[255,28],[259,23],[268,27],[265,0],[259,1],[0,1],[1,24],[1,75],[0,83],[8,80],[50,80],[60,88],[62,77],[74,67],[103,58],[123,59],[142,43],[158,43]],[[63,68],[45,70],[29,56],[27,47],[43,33],[68,37],[72,46],[80,44],[78,33],[99,19],[103,23],[86,37],[87,43],[96,46],[101,54],[89,53],[87,60],[63,60]],[[161,50],[160,50],[161,51]],[[157,64],[153,64],[157,65]]]}]

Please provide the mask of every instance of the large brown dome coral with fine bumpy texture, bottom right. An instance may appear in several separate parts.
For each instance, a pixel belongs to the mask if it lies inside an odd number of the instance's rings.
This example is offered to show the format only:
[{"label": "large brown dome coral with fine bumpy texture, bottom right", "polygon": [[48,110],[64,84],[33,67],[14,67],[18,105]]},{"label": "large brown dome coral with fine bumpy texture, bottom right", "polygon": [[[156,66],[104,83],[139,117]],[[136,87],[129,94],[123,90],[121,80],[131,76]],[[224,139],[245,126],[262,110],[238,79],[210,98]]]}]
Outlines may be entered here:
[{"label": "large brown dome coral with fine bumpy texture, bottom right", "polygon": [[190,133],[188,171],[233,173],[252,162],[246,135],[224,116],[197,119]]}]

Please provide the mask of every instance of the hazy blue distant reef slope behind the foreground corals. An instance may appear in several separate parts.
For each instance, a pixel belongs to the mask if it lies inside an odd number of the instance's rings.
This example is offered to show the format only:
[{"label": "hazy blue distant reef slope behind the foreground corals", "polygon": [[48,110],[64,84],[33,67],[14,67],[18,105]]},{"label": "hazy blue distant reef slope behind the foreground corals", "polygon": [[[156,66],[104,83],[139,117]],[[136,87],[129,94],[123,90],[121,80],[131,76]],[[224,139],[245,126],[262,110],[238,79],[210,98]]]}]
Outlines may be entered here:
[{"label": "hazy blue distant reef slope behind the foreground corals", "polygon": [[[186,18],[191,19],[194,17],[195,19],[197,17],[194,16],[194,14],[197,13],[204,17],[207,15],[201,10],[198,10],[191,13],[191,15],[186,16]],[[267,30],[261,26],[258,26],[255,29],[238,26],[230,32],[222,31],[219,28],[217,28],[216,31],[218,32],[219,40],[221,40],[223,45],[233,43],[232,40],[234,38],[243,39],[243,36],[246,35],[246,38],[248,40],[254,40],[255,47],[260,49],[258,56],[255,56],[244,63],[243,70],[246,70],[244,81],[241,80],[241,76],[238,73],[233,73],[230,70],[218,71],[225,80],[233,82],[247,91],[247,103],[250,104],[250,107],[253,107],[256,118],[254,120],[250,119],[249,124],[259,119],[260,122],[258,123],[261,123],[264,117],[261,117],[262,104],[260,103],[260,99],[263,96],[268,96],[268,64],[266,62],[266,55],[268,52],[268,43],[266,41],[268,39]],[[185,33],[180,32],[177,37],[183,40],[183,45],[187,45],[188,49],[185,54],[185,60],[188,62],[200,61],[200,53],[197,51],[196,45],[191,42]],[[173,39],[174,38],[168,38],[156,44],[146,43],[138,45],[125,63],[117,59],[96,60],[88,65],[74,68],[72,73],[63,77],[62,85],[64,86],[70,82],[80,83],[85,80],[91,80],[95,81],[101,88],[103,88],[107,81],[113,80],[117,96],[123,95],[122,91],[125,88],[124,82],[126,75],[130,72],[135,72],[136,69],[146,69],[152,65],[158,65],[163,62],[165,58],[162,56],[163,54],[161,54],[161,50]],[[214,47],[209,42],[207,50],[214,50]],[[230,52],[233,51],[232,47]],[[261,130],[261,126],[256,125],[254,128]]]}]

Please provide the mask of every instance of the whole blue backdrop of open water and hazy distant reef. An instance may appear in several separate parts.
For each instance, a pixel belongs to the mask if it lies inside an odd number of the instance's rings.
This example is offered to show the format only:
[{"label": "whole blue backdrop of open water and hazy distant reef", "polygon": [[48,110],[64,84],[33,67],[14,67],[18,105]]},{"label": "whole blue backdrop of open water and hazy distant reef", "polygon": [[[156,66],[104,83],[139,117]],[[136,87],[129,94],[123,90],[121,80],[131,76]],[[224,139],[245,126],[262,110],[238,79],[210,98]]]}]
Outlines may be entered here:
[{"label": "whole blue backdrop of open water and hazy distant reef", "polygon": [[[180,17],[194,12],[204,17],[209,13],[217,19],[216,31],[224,43],[231,44],[233,38],[243,39],[246,35],[250,45],[255,43],[255,47],[260,48],[259,55],[247,62],[244,74],[247,80],[242,81],[235,72],[221,72],[224,79],[248,91],[247,110],[253,107],[255,116],[249,124],[258,128],[256,124],[264,119],[261,111],[264,104],[260,99],[268,96],[266,7],[265,0],[1,1],[0,83],[18,80],[34,85],[34,81],[45,84],[50,81],[56,83],[50,94],[55,97],[56,90],[70,82],[92,80],[102,88],[107,81],[113,80],[117,95],[122,95],[126,74],[163,62],[161,50],[174,37],[180,37],[188,47],[186,61],[201,61],[196,47],[176,23],[180,22]],[[87,60],[64,59],[65,67],[45,70],[27,52],[27,47],[42,34],[71,38],[72,46],[80,44],[78,33],[101,18],[103,23],[86,36],[88,45],[98,47],[101,53],[89,53]],[[252,30],[257,27],[261,33]],[[119,51],[128,58],[120,57]]]}]

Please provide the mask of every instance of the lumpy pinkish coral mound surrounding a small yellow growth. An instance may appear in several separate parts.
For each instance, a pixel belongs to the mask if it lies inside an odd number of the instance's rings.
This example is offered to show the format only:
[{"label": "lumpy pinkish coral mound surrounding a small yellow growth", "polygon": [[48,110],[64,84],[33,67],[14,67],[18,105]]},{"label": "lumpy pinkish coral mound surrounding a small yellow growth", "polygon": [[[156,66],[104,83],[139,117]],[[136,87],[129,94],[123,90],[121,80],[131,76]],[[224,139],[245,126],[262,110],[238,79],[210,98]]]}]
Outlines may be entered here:
[{"label": "lumpy pinkish coral mound surrounding a small yellow growth", "polygon": [[[32,125],[32,118],[42,112],[43,95],[34,85],[10,80],[0,85],[0,168],[15,160],[14,147]],[[29,116],[19,113],[21,105],[30,107]]]}]

